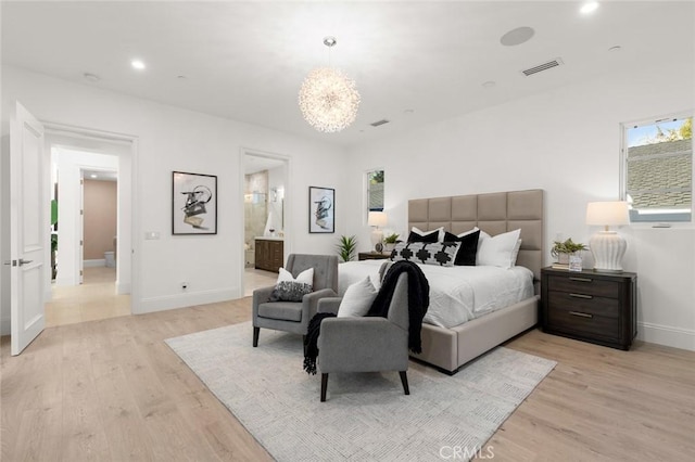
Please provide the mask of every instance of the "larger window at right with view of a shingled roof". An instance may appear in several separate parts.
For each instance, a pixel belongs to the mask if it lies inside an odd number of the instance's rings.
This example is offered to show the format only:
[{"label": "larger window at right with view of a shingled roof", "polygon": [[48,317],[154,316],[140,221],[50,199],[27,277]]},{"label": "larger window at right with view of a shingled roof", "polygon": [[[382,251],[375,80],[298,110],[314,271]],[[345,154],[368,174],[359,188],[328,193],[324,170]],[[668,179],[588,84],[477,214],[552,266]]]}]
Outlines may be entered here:
[{"label": "larger window at right with view of a shingled roof", "polygon": [[693,117],[623,124],[622,197],[631,221],[691,221]]}]

